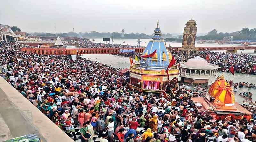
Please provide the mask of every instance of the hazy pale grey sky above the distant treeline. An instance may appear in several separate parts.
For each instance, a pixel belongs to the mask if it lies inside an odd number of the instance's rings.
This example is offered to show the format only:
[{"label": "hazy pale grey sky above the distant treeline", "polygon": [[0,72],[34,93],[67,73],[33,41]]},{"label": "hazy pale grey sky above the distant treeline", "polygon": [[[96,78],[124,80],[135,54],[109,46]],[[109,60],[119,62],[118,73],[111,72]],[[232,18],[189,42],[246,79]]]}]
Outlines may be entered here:
[{"label": "hazy pale grey sky above the distant treeline", "polygon": [[193,18],[197,33],[256,28],[256,0],[3,0],[0,24],[27,32],[182,33]]}]

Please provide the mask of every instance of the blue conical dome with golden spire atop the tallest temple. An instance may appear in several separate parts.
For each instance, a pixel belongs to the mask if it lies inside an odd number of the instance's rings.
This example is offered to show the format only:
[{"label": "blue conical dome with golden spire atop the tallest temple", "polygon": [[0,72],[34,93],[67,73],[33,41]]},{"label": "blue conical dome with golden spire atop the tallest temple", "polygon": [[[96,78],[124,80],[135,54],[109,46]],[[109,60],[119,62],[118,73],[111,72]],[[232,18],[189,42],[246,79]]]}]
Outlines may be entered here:
[{"label": "blue conical dome with golden spire atop the tallest temple", "polygon": [[167,51],[164,41],[162,40],[162,32],[158,26],[154,30],[154,34],[151,41],[148,42],[147,47],[145,48],[142,56],[149,55],[156,50],[156,53],[153,57],[141,58],[140,67],[147,70],[166,70],[169,63],[172,60],[172,55]]}]

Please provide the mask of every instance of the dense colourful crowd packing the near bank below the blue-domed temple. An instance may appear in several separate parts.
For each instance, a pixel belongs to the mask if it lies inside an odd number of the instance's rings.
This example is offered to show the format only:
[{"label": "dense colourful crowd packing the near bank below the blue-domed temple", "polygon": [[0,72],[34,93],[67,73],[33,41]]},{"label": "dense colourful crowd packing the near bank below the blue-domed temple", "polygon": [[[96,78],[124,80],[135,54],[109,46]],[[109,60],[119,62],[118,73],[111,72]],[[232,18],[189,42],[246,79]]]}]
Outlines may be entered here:
[{"label": "dense colourful crowd packing the near bank below the blue-domed temple", "polygon": [[197,112],[191,98],[204,96],[207,87],[189,90],[182,84],[173,88],[174,96],[136,93],[127,86],[129,77],[109,65],[20,47],[0,42],[1,76],[74,140],[75,125],[82,142],[91,142],[95,133],[100,142],[256,141],[255,115],[216,120]]}]

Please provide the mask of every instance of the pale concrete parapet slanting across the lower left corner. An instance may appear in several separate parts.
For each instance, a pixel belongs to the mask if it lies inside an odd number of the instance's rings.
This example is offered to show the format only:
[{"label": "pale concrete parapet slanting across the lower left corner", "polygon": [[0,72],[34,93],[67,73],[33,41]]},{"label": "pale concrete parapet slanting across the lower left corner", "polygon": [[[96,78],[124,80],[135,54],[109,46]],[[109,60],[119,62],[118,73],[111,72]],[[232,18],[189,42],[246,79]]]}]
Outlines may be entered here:
[{"label": "pale concrete parapet slanting across the lower left corner", "polygon": [[34,133],[42,142],[74,142],[2,77],[0,114],[0,120],[4,120],[8,126],[4,129],[11,133],[7,134],[5,140]]}]

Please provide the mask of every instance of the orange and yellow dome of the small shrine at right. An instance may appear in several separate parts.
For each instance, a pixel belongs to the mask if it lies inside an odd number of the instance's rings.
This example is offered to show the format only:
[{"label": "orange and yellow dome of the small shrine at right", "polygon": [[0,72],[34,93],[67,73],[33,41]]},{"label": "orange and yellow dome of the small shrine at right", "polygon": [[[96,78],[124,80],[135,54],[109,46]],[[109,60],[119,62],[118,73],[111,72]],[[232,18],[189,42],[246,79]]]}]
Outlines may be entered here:
[{"label": "orange and yellow dome of the small shrine at right", "polygon": [[223,75],[218,77],[210,86],[208,94],[215,98],[214,103],[222,107],[233,106],[235,104],[235,95],[233,89],[225,81]]}]

